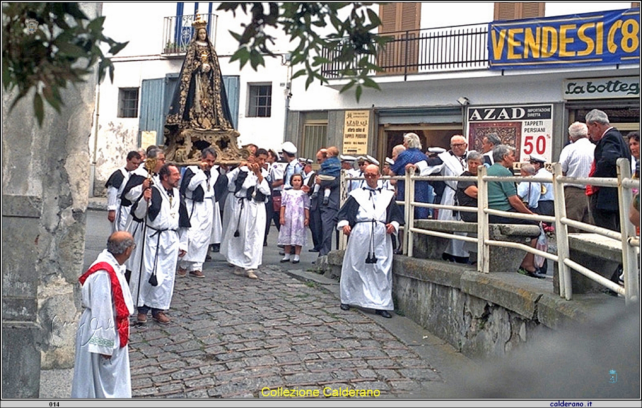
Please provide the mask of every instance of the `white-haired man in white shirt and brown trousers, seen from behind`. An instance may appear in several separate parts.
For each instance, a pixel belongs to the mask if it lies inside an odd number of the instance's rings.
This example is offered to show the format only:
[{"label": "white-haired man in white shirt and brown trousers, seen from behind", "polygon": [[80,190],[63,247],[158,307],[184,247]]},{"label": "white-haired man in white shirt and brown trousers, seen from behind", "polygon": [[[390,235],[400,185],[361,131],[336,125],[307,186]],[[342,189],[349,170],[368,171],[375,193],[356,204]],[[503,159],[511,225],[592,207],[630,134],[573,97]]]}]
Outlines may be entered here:
[{"label": "white-haired man in white shirt and brown trousers, seen from behind", "polygon": [[[591,173],[595,145],[588,138],[589,129],[586,124],[574,122],[568,127],[570,144],[562,149],[559,163],[562,173],[568,177],[586,178]],[[564,185],[564,201],[566,201],[566,216],[570,219],[593,224],[589,212],[589,198],[586,195],[586,185]],[[568,232],[580,232],[577,228],[568,227]]]}]

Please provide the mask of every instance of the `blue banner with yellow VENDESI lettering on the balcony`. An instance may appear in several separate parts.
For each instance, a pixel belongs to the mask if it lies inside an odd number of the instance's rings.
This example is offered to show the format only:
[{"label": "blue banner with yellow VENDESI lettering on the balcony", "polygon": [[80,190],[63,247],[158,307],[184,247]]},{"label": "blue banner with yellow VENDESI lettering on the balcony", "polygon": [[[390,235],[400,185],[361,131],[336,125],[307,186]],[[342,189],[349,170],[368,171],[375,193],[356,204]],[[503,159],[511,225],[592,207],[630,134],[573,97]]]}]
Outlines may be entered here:
[{"label": "blue banner with yellow VENDESI lettering on the balcony", "polygon": [[639,64],[639,31],[639,8],[490,22],[490,69]]}]

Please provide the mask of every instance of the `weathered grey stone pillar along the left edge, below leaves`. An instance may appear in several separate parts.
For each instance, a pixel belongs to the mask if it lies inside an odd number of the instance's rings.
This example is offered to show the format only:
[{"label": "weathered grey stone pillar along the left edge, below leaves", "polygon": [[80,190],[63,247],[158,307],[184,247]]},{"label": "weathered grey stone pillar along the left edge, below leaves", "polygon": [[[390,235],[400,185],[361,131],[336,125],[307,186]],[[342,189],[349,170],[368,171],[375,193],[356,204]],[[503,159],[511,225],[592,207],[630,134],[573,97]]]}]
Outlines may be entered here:
[{"label": "weathered grey stone pillar along the left edge, below leaves", "polygon": [[42,128],[31,95],[9,112],[3,92],[3,398],[38,398],[41,366],[73,366],[96,77],[62,92],[60,114],[46,106]]}]

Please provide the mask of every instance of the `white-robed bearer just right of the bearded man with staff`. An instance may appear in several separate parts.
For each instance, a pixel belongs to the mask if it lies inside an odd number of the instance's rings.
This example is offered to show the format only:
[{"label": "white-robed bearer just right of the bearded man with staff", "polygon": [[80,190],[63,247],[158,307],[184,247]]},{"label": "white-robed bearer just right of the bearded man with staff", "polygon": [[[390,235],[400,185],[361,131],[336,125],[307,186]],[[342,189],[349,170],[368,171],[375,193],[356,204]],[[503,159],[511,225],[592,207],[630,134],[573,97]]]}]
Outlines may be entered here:
[{"label": "white-robed bearer just right of the bearded man with staff", "polygon": [[178,261],[180,277],[187,273],[195,278],[205,277],[203,263],[207,257],[214,223],[215,186],[218,184],[227,189],[227,178],[220,177],[218,171],[212,171],[214,162],[216,151],[205,148],[199,166],[188,166],[183,174],[180,194],[185,199],[190,227],[186,231],[187,253]]}]

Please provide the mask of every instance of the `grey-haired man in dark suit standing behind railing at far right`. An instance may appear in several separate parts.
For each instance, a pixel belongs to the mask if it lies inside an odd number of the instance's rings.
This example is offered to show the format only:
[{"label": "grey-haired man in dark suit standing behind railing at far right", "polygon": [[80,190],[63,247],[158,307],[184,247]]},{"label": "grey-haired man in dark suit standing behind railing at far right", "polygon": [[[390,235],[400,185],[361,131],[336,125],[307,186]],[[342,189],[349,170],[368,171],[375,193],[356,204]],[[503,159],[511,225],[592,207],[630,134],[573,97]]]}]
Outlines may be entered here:
[{"label": "grey-haired man in dark suit standing behind railing at far right", "polygon": [[[618,158],[630,158],[629,148],[621,133],[609,123],[609,117],[602,110],[593,109],[586,114],[589,137],[595,143],[593,166],[589,177],[617,177]],[[620,231],[620,209],[618,189],[588,185],[589,208],[595,225]]]}]

